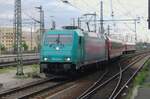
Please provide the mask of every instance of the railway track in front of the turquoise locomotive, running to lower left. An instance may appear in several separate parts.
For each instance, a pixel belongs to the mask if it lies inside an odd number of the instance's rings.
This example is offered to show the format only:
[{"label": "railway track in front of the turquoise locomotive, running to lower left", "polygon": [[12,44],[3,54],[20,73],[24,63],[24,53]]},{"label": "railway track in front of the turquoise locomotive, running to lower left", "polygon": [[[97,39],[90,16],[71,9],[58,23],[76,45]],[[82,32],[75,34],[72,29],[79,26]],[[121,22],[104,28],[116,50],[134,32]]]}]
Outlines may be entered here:
[{"label": "railway track in front of the turquoise locomotive, running to lower left", "polygon": [[3,91],[0,93],[0,99],[28,99],[29,97],[49,89],[52,90],[53,88],[61,86],[70,81],[67,79],[61,79],[61,81],[55,82],[57,79],[60,78],[52,77],[43,79],[37,82],[26,84],[24,86]]}]

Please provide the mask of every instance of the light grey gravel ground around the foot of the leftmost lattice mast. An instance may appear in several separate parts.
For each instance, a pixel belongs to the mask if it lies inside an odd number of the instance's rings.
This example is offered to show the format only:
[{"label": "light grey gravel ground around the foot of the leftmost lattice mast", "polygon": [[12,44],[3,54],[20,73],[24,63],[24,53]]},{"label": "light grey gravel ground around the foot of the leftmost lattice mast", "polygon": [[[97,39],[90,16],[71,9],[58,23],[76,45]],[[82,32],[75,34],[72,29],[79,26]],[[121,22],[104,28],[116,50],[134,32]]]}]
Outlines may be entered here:
[{"label": "light grey gravel ground around the foot of the leftmost lattice mast", "polygon": [[[32,72],[32,68],[27,66],[24,67],[24,73],[28,73],[28,72]],[[40,78],[17,78],[16,77],[16,70],[10,70],[6,73],[2,73],[0,74],[0,92],[10,89],[10,88],[14,88],[17,86],[21,86],[33,81],[37,81]],[[2,86],[1,86],[2,85]]]}]

